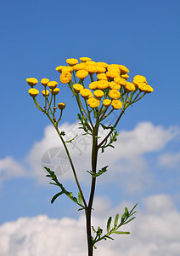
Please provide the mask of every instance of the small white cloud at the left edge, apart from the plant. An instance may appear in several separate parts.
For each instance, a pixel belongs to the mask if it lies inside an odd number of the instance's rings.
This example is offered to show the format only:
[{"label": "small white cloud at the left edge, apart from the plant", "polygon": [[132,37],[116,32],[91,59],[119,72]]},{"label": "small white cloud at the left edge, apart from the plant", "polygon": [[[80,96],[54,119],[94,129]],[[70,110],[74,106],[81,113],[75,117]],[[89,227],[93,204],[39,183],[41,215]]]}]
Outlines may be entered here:
[{"label": "small white cloud at the left edge, apart from the plant", "polygon": [[12,177],[25,175],[23,167],[12,157],[7,156],[0,160],[0,183]]}]

